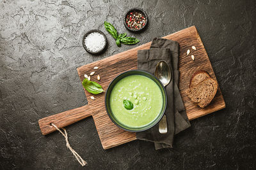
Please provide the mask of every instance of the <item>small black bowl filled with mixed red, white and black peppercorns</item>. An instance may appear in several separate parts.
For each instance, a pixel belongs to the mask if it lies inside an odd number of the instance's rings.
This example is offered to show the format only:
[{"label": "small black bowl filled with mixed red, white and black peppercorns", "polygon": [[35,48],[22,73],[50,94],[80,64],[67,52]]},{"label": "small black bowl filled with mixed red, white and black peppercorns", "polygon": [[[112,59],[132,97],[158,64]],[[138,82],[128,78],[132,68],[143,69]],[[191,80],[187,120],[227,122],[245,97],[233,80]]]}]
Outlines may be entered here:
[{"label": "small black bowl filled with mixed red, white and black peppercorns", "polygon": [[148,16],[140,8],[132,8],[127,11],[124,17],[124,25],[131,32],[140,32],[145,29],[148,23]]}]

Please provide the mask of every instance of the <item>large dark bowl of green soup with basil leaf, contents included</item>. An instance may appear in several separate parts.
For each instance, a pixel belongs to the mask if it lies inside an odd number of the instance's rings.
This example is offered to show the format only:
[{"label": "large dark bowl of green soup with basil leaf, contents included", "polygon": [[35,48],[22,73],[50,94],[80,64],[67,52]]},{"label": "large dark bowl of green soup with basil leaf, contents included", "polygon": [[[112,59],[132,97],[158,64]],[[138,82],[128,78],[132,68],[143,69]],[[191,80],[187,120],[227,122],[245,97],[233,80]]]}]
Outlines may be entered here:
[{"label": "large dark bowl of green soup with basil leaf, contents included", "polygon": [[140,132],[156,125],[166,110],[163,84],[147,71],[131,70],[116,76],[105,95],[109,118],[118,127]]}]

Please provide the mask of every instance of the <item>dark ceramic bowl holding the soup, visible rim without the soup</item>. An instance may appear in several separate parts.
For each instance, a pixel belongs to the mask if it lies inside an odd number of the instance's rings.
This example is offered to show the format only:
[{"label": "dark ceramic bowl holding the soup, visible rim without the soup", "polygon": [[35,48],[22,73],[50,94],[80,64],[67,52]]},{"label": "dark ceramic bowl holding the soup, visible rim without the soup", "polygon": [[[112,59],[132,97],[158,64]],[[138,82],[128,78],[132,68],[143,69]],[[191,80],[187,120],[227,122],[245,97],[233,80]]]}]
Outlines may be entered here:
[{"label": "dark ceramic bowl holding the soup, visible rim without the soup", "polygon": [[[127,127],[124,124],[121,124],[120,122],[118,122],[118,120],[116,120],[116,118],[114,117],[112,111],[111,111],[111,107],[110,107],[110,103],[109,103],[109,98],[110,98],[110,94],[111,91],[113,90],[113,87],[115,87],[116,83],[118,81],[120,81],[122,78],[125,78],[126,76],[131,76],[131,75],[142,75],[142,76],[147,76],[148,78],[150,78],[151,80],[155,81],[156,84],[158,85],[158,87],[161,89],[162,92],[162,96],[163,96],[163,106],[162,106],[162,110],[159,113],[159,115],[157,116],[157,118],[150,124],[145,125],[143,127],[138,127],[138,128],[132,128],[132,127]],[[129,131],[129,132],[141,132],[141,131],[146,131],[147,129],[150,129],[151,127],[153,127],[154,125],[156,125],[161,118],[164,115],[164,111],[166,110],[166,104],[167,104],[167,96],[166,96],[166,91],[164,89],[163,84],[161,83],[161,81],[159,81],[158,78],[156,78],[156,76],[154,76],[151,73],[148,73],[147,71],[141,71],[141,70],[131,70],[131,71],[126,71],[122,74],[119,74],[118,76],[116,76],[116,78],[114,78],[113,81],[111,81],[111,83],[108,86],[108,90],[106,91],[105,94],[105,108],[106,111],[108,113],[109,118],[112,120],[112,122],[114,122],[114,124],[116,124],[118,127],[124,129],[125,131]]]}]

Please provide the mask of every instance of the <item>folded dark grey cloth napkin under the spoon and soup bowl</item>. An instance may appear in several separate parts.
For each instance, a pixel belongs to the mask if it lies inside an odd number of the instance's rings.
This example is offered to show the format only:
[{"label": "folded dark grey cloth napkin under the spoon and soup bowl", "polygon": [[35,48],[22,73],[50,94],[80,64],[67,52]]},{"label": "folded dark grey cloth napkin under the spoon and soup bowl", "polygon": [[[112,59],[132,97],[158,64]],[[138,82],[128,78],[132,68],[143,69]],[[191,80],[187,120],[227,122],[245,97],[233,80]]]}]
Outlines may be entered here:
[{"label": "folded dark grey cloth napkin under the spoon and soup bowl", "polygon": [[190,127],[186,109],[179,92],[179,43],[169,39],[154,38],[149,50],[138,51],[138,69],[154,74],[157,63],[164,60],[172,71],[172,80],[165,87],[167,94],[168,132],[159,133],[159,123],[147,131],[137,132],[136,138],[155,143],[156,150],[173,147],[174,134]]}]

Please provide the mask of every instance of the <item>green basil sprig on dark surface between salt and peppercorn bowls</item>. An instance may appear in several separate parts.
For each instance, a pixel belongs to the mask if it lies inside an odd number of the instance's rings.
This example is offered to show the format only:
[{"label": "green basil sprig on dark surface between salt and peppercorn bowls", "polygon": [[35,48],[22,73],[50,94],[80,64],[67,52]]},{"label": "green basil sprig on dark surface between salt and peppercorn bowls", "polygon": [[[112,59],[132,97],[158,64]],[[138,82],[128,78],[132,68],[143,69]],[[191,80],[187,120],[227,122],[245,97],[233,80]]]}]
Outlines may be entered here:
[{"label": "green basil sprig on dark surface between salt and peppercorn bowls", "polygon": [[109,22],[105,21],[104,26],[105,26],[106,30],[109,32],[109,34],[111,34],[111,36],[113,36],[113,38],[116,39],[117,46],[121,46],[121,43],[123,43],[124,45],[134,45],[134,44],[140,42],[140,40],[137,38],[127,37],[127,33],[118,35],[115,27],[112,24],[110,24]]}]

